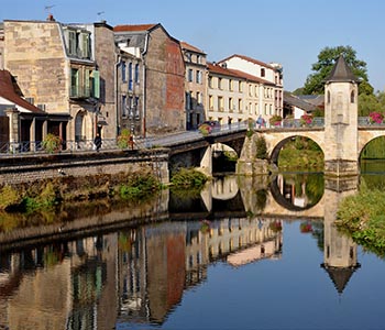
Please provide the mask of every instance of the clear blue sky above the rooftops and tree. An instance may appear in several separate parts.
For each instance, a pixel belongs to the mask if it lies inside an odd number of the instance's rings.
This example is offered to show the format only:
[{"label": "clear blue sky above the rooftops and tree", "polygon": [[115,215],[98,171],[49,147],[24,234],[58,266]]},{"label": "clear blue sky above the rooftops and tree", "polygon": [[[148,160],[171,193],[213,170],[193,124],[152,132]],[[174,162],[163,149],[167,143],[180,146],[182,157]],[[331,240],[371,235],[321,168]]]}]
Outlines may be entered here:
[{"label": "clear blue sky above the rooftops and tree", "polygon": [[219,62],[241,54],[284,67],[284,89],[302,87],[324,47],[351,46],[369,82],[385,90],[384,0],[0,0],[0,21],[161,23]]}]

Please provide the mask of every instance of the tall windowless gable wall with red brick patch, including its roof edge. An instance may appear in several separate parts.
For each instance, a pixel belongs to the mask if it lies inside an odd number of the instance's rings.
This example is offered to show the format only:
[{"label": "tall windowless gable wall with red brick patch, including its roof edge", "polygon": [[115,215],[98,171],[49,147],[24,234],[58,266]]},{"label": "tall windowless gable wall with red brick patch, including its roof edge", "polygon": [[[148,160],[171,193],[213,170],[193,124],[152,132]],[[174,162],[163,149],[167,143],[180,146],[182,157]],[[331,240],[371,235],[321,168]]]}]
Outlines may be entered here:
[{"label": "tall windowless gable wall with red brick patch, including its roof edge", "polygon": [[179,42],[161,24],[118,25],[113,30],[120,48],[143,64],[141,135],[185,130],[185,64]]}]

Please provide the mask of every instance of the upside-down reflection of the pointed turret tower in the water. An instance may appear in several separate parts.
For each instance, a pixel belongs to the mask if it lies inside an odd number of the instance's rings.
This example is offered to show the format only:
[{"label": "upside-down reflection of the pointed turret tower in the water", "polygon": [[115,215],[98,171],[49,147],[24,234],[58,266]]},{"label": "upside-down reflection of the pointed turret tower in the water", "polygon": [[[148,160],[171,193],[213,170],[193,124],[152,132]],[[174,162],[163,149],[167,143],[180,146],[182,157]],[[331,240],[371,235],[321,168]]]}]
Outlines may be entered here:
[{"label": "upside-down reflection of the pointed turret tower in the water", "polygon": [[339,294],[344,290],[350,277],[355,272],[360,264],[356,256],[356,244],[351,238],[340,233],[336,226],[336,215],[340,200],[349,195],[356,193],[358,177],[344,182],[344,187],[341,190],[341,185],[338,187],[336,183],[340,180],[327,180],[324,189],[324,251],[323,251],[323,267],[331,280],[333,282]]}]

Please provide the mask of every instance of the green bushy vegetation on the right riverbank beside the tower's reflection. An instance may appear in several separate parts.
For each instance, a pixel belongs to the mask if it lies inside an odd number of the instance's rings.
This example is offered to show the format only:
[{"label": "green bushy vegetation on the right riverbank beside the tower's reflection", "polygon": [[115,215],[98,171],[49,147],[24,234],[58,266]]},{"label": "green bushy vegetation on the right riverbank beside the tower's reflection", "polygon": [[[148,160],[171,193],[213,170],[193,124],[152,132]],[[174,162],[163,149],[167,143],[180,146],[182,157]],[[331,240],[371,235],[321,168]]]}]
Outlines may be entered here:
[{"label": "green bushy vegetation on the right riverbank beside the tower's reflection", "polygon": [[364,249],[385,257],[385,191],[369,189],[342,200],[336,224]]}]

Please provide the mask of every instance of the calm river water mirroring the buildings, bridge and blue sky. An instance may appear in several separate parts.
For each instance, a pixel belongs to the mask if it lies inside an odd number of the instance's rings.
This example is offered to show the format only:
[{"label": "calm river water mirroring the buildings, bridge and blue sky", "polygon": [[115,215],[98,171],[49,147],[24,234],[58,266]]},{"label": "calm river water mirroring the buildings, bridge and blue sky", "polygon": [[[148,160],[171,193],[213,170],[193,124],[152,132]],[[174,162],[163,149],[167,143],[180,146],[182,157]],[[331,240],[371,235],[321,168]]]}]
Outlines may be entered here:
[{"label": "calm river water mirroring the buildings, bridge and blue sky", "polygon": [[384,329],[385,262],[332,226],[355,188],[226,177],[40,241],[26,228],[0,246],[0,329]]}]

